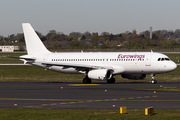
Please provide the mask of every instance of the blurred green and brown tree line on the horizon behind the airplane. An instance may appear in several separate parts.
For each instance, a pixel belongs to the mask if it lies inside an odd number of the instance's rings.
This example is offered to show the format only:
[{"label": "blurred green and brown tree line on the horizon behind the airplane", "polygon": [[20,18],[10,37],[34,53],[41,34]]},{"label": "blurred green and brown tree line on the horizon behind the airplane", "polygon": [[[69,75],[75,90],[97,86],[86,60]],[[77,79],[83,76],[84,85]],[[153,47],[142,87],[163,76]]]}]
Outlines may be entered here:
[{"label": "blurred green and brown tree line on the horizon behind the airplane", "polygon": [[[37,32],[45,46],[50,50],[58,49],[173,49],[180,48],[180,29],[175,31],[158,30],[149,38],[148,30],[139,34],[126,31],[120,34],[103,32],[84,33],[71,32],[69,35],[50,30],[46,35]],[[23,33],[0,36],[0,45],[18,45],[21,50],[25,46]]]}]

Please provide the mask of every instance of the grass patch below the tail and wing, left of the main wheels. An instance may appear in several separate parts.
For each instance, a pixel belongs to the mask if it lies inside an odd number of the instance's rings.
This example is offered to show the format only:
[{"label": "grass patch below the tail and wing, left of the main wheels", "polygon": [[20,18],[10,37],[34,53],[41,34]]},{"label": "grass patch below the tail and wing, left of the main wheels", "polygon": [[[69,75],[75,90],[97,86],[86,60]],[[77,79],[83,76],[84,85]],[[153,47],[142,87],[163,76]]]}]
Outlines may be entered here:
[{"label": "grass patch below the tail and wing, left of the main wheels", "polygon": [[0,66],[0,81],[75,82],[83,77],[83,74],[58,73],[36,66]]}]

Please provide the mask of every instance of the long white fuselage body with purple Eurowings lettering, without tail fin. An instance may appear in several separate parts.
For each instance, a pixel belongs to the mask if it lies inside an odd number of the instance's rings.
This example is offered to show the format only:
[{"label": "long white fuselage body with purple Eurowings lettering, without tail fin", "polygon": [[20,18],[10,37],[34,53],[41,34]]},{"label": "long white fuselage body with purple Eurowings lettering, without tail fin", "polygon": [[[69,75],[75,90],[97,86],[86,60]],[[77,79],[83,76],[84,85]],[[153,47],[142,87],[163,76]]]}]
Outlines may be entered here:
[{"label": "long white fuselage body with purple Eurowings lettering, without tail fin", "polygon": [[[177,65],[166,55],[154,52],[96,52],[96,53],[46,53],[34,54],[33,65],[46,68],[42,63],[102,66],[113,74],[158,74],[176,69]],[[50,70],[64,73],[84,73],[74,67],[50,66]]]}]

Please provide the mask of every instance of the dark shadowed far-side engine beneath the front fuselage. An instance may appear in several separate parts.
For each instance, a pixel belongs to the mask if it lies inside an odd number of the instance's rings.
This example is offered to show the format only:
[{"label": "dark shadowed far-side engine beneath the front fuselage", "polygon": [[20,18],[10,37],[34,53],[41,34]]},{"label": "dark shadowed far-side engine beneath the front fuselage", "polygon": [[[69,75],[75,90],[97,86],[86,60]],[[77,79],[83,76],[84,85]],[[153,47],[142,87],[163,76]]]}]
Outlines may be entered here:
[{"label": "dark shadowed far-side engine beneath the front fuselage", "polygon": [[146,74],[122,74],[123,78],[133,79],[133,80],[142,80],[147,77]]}]

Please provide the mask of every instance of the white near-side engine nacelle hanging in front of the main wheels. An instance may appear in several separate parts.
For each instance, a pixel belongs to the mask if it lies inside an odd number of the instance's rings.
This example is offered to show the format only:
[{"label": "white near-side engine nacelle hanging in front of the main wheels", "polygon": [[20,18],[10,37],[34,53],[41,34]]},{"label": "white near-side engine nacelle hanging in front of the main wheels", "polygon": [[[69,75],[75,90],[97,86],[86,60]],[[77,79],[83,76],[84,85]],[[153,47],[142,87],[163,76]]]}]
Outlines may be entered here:
[{"label": "white near-side engine nacelle hanging in front of the main wheels", "polygon": [[108,69],[90,70],[87,75],[88,78],[94,80],[108,80],[112,77],[112,73]]}]

